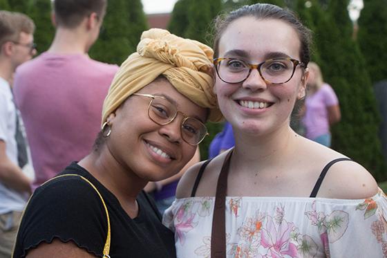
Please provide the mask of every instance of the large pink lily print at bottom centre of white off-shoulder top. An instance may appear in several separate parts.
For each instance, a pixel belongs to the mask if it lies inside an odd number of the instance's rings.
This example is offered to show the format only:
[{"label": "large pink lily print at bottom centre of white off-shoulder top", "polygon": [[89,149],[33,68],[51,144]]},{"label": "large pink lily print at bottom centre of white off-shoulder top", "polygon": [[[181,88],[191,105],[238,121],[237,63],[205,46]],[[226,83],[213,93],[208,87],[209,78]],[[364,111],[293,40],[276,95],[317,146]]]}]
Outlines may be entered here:
[{"label": "large pink lily print at bottom centre of white off-shoulder top", "polygon": [[269,248],[270,257],[299,257],[296,245],[290,242],[290,234],[294,230],[293,223],[283,220],[281,224],[276,224],[271,216],[267,216],[265,222],[265,227],[261,230],[261,245]]}]

